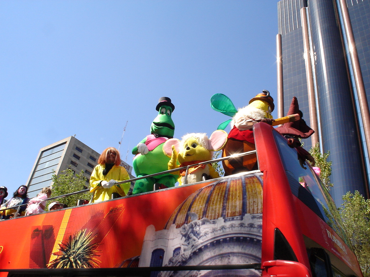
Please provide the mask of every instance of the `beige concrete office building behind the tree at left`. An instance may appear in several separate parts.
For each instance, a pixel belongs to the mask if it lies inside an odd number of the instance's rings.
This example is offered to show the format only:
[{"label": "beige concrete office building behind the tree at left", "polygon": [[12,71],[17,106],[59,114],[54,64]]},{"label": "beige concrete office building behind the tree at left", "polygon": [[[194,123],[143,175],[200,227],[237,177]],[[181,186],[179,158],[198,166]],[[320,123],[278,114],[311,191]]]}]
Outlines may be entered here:
[{"label": "beige concrete office building behind the tree at left", "polygon": [[[87,178],[86,187],[93,168],[97,165],[100,154],[92,150],[86,144],[74,136],[67,137],[56,143],[40,149],[35,164],[27,180],[28,197],[34,197],[44,187],[53,184],[52,175],[60,174],[63,170],[71,168],[74,172],[84,171]],[[131,178],[132,166],[121,160],[121,166],[125,167]]]}]

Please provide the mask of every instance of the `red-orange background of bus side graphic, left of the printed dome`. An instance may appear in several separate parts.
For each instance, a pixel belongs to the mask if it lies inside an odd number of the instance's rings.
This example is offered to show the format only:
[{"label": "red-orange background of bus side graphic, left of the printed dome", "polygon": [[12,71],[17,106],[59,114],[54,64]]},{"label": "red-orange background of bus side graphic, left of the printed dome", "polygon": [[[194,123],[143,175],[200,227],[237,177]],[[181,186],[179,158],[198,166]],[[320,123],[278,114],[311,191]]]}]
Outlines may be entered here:
[{"label": "red-orange background of bus side graphic, left of the printed dome", "polygon": [[[84,232],[98,243],[95,259],[114,267],[123,259],[140,255],[147,226],[163,229],[172,211],[205,184],[149,193],[95,204],[81,205],[0,222],[0,268],[43,268],[68,243]],[[111,253],[111,254],[107,254]]]}]

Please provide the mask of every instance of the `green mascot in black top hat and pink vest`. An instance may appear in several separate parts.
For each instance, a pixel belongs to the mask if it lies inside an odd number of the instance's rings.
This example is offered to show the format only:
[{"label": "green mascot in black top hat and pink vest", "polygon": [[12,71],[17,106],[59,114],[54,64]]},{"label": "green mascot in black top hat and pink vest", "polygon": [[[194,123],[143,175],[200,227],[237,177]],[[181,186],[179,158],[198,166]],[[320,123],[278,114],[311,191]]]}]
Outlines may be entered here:
[{"label": "green mascot in black top hat and pink vest", "polygon": [[[132,154],[135,155],[132,165],[138,178],[168,170],[167,164],[170,158],[164,154],[163,144],[169,138],[174,137],[175,124],[171,119],[174,109],[175,106],[170,98],[159,98],[156,107],[158,116],[150,126],[151,134],[132,149]],[[154,187],[174,187],[178,177],[178,175],[168,173],[137,180],[132,194],[152,191]]]}]

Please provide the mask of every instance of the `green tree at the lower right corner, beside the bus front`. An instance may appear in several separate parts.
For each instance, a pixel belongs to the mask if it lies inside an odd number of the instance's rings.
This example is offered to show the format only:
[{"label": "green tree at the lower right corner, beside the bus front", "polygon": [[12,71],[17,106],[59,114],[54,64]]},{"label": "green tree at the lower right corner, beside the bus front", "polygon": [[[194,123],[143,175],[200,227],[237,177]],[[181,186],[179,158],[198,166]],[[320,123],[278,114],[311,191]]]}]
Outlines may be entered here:
[{"label": "green tree at the lower right corner, beside the bus front", "polygon": [[370,200],[360,192],[343,195],[340,214],[364,277],[370,277]]}]

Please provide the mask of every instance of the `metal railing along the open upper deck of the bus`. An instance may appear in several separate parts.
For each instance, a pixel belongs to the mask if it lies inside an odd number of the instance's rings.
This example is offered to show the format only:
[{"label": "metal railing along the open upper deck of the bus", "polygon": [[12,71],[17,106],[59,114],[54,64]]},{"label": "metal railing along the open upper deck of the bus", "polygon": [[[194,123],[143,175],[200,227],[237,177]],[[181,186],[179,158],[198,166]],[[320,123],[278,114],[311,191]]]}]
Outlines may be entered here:
[{"label": "metal railing along the open upper deck of the bus", "polygon": [[[187,165],[185,167],[178,167],[178,168],[174,168],[174,169],[171,169],[171,170],[166,170],[166,171],[162,171],[162,172],[158,172],[158,173],[154,173],[154,174],[150,174],[150,175],[145,175],[143,177],[132,178],[132,179],[125,180],[125,181],[122,181],[122,182],[117,182],[115,185],[120,185],[120,184],[125,184],[125,183],[130,182],[131,183],[130,191],[132,191],[132,187],[133,187],[132,184],[134,184],[133,182],[135,182],[137,180],[150,178],[150,177],[154,177],[154,176],[158,176],[158,175],[162,175],[162,174],[167,174],[167,173],[171,173],[171,172],[175,172],[175,171],[179,171],[179,170],[186,170],[185,171],[185,179],[184,179],[184,183],[183,183],[183,185],[185,185],[186,184],[186,178],[187,178],[188,172],[189,172],[189,168],[196,167],[198,165],[218,163],[219,161],[224,161],[224,160],[228,160],[230,158],[236,158],[236,157],[241,157],[241,156],[245,156],[245,155],[251,155],[251,154],[254,154],[254,153],[256,153],[256,150],[243,152],[243,153],[239,153],[239,154],[233,154],[233,155],[230,155],[230,156],[227,156],[227,157],[222,157],[222,158],[217,158],[217,159],[214,159],[214,160],[204,161],[204,162],[198,163],[198,164]],[[47,201],[58,199],[58,198],[63,198],[63,197],[70,196],[70,195],[82,194],[84,192],[90,192],[90,189],[84,189],[84,190],[81,190],[81,191],[71,192],[71,193],[63,194],[63,195],[59,195],[59,196],[54,196],[54,197],[48,198]],[[129,196],[129,194],[127,194],[126,196]],[[126,197],[126,196],[122,196],[122,197]],[[26,204],[21,204],[21,205],[8,207],[8,208],[5,208],[5,209],[1,209],[0,212],[4,212],[4,211],[9,210],[9,209],[13,209],[13,210],[16,209],[17,212],[15,213],[15,216],[14,216],[14,218],[16,218],[16,217],[19,217],[18,214],[19,214],[19,211],[20,211],[21,207],[26,206],[26,205],[28,205],[28,204],[26,203]]]}]

